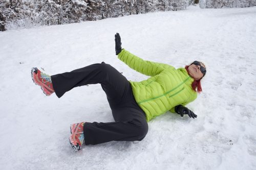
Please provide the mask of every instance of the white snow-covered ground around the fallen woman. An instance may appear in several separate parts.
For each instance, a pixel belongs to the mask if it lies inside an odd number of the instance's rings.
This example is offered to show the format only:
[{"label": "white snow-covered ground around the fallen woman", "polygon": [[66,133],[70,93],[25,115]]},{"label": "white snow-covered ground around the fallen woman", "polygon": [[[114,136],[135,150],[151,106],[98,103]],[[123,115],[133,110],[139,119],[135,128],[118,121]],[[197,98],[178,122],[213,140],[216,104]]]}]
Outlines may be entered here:
[{"label": "white snow-covered ground around the fallen woman", "polygon": [[[256,169],[256,7],[158,12],[71,25],[0,32],[0,169]],[[100,85],[58,99],[31,80],[106,62],[128,80],[147,77],[115,56],[122,47],[183,67],[203,61],[203,93],[188,107],[198,118],[167,112],[142,141],[85,146],[75,153],[72,123],[112,122]]]}]

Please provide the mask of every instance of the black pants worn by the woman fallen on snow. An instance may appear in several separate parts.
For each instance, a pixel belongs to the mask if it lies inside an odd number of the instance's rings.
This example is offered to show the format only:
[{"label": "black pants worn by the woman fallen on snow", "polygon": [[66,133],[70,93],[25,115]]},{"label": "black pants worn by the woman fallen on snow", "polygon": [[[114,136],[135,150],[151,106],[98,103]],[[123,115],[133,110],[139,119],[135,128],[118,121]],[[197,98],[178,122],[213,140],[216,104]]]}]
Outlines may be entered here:
[{"label": "black pants worn by the woman fallen on snow", "polygon": [[134,99],[129,81],[114,67],[102,62],[51,76],[53,88],[60,98],[77,86],[100,83],[106,93],[115,122],[85,123],[86,144],[112,140],[142,140],[148,130],[145,113]]}]

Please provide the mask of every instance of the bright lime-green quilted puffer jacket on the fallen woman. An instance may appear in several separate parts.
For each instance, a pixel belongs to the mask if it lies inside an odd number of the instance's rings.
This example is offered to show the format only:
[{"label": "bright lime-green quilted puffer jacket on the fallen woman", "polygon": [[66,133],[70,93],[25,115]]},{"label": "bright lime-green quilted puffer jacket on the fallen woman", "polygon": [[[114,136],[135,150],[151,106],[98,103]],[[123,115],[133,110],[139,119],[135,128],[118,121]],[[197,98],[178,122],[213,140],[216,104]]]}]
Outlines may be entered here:
[{"label": "bright lime-green quilted puffer jacket on the fallen woman", "polygon": [[130,81],[133,94],[140,108],[146,113],[147,122],[177,105],[186,105],[197,98],[191,87],[194,81],[185,68],[145,61],[122,49],[118,58],[141,74],[151,76],[141,82]]}]

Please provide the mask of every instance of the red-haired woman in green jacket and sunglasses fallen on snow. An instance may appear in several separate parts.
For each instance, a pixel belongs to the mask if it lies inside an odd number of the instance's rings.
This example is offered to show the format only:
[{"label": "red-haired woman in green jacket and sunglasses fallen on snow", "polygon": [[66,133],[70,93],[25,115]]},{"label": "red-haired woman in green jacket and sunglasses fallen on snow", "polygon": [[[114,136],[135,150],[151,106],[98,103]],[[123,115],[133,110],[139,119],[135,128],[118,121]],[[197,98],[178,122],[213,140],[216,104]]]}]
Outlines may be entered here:
[{"label": "red-haired woman in green jacket and sunglasses fallen on snow", "polygon": [[197,117],[184,107],[201,92],[200,80],[206,74],[205,66],[194,61],[185,68],[144,61],[121,48],[121,38],[115,35],[116,55],[136,71],[151,76],[141,82],[127,81],[114,67],[104,62],[53,76],[32,68],[32,79],[41,86],[46,95],[60,98],[77,86],[100,83],[106,93],[115,122],[81,122],[70,126],[70,144],[77,152],[83,143],[98,144],[113,140],[142,140],[147,134],[147,122],[167,112],[176,112],[182,117]]}]

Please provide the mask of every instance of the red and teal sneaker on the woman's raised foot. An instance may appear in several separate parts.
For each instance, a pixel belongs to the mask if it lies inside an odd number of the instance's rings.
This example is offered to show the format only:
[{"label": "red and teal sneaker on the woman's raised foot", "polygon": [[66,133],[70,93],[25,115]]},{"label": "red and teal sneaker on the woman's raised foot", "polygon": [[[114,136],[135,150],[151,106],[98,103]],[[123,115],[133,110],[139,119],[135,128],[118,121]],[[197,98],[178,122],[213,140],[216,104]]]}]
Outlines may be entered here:
[{"label": "red and teal sneaker on the woman's raised foot", "polygon": [[47,96],[54,93],[51,76],[44,74],[38,68],[33,67],[31,69],[31,77],[36,85],[41,86],[42,91]]}]

